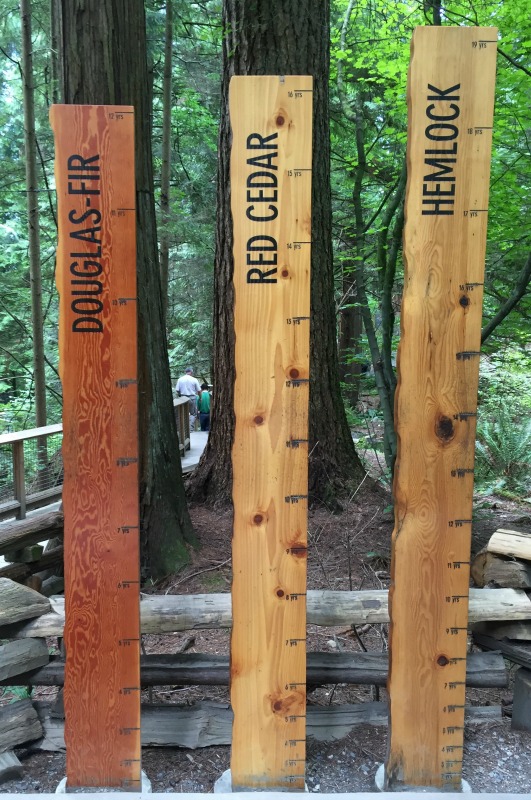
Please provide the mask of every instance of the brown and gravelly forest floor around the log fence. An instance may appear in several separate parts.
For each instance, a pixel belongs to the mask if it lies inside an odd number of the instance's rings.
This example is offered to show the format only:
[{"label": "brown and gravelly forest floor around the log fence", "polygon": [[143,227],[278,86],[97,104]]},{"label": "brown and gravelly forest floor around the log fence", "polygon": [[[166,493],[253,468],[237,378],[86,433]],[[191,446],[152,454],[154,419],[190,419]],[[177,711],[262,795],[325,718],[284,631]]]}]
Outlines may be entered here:
[{"label": "brown and gravelly forest floor around the log fence", "polygon": [[[388,499],[366,491],[366,486],[343,504],[340,513],[325,507],[309,514],[308,587],[370,589],[389,586],[390,540],[393,519]],[[231,513],[204,506],[191,507],[201,548],[191,564],[157,587],[157,593],[194,594],[229,592],[231,587]],[[473,552],[479,550],[498,527],[531,524],[531,506],[485,497],[476,503]],[[366,625],[352,630],[309,626],[308,650],[356,651],[387,648],[387,626]],[[144,636],[145,651],[228,653],[229,633],[196,631],[165,636]],[[508,664],[511,670],[511,665]],[[514,668],[513,668],[514,669]],[[47,689],[48,697],[53,689]],[[144,702],[148,699],[147,693]],[[151,690],[149,699],[160,703],[190,704],[200,699],[228,700],[226,687],[164,687]],[[319,687],[308,697],[312,704],[361,703],[375,699],[366,686]],[[386,692],[380,689],[380,699]],[[467,703],[502,705],[501,721],[468,725],[465,731],[463,777],[475,792],[531,790],[531,734],[511,731],[512,689],[467,690]],[[310,792],[371,792],[376,770],[386,757],[387,730],[357,727],[334,742],[308,740],[306,781]],[[64,753],[18,752],[24,775],[0,786],[1,792],[54,791],[65,774]],[[146,748],[143,768],[154,792],[212,792],[214,782],[229,767],[229,747],[198,750]]]}]

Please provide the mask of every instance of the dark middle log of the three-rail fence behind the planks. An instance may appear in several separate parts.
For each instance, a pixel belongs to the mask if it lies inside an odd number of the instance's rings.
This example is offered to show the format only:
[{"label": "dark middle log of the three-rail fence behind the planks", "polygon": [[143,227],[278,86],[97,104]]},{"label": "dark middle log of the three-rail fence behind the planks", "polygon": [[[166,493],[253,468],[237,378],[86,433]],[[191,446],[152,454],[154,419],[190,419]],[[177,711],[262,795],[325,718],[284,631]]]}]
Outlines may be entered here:
[{"label": "dark middle log of the three-rail fence behind the planks", "polygon": [[[306,683],[308,686],[336,683],[385,686],[387,672],[387,653],[308,653]],[[140,657],[140,680],[143,687],[228,686],[229,657],[203,653],[143,655]],[[466,683],[473,687],[507,686],[502,656],[470,653]],[[0,686],[7,684],[7,680],[0,680]],[[63,684],[64,661],[59,658],[17,678],[20,686]]]}]

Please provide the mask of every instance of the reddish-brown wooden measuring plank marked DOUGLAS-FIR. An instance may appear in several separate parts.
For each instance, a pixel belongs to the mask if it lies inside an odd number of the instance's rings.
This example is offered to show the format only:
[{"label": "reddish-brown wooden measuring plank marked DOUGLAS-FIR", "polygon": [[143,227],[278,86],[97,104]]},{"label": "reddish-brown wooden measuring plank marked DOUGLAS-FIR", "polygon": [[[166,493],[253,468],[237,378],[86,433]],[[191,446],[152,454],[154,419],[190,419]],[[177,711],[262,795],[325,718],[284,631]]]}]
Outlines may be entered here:
[{"label": "reddish-brown wooden measuring plank marked DOUGLAS-FIR", "polygon": [[52,106],[67,784],[140,788],[134,116]]}]

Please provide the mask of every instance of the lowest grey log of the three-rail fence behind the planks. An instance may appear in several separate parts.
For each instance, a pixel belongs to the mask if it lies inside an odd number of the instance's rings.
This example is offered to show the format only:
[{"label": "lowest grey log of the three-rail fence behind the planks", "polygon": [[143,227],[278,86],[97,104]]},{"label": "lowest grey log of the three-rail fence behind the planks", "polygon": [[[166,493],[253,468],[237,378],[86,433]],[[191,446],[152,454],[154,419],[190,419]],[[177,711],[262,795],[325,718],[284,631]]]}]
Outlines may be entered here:
[{"label": "lowest grey log of the three-rail fence behind the planks", "polygon": [[[64,722],[51,717],[49,703],[35,703],[44,728],[42,750],[64,750]],[[306,734],[319,742],[347,736],[358,725],[387,725],[387,703],[343,706],[308,706]],[[501,720],[499,706],[467,706],[465,723]],[[230,745],[232,710],[227,703],[202,702],[193,706],[142,705],[143,747],[186,747],[195,750],[213,745]]]}]

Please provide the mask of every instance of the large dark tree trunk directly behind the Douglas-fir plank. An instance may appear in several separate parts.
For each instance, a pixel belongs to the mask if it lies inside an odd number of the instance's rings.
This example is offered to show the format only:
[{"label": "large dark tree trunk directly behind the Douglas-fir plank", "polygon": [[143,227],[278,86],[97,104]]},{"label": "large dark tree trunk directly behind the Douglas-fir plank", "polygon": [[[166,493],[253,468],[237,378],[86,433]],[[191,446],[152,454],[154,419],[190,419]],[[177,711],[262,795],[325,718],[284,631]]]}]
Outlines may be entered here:
[{"label": "large dark tree trunk directly behind the Douglas-fir plank", "polygon": [[135,107],[140,513],[143,571],[160,578],[195,544],[173,414],[160,287],[142,0],[62,0],[65,100]]}]

